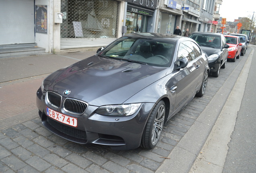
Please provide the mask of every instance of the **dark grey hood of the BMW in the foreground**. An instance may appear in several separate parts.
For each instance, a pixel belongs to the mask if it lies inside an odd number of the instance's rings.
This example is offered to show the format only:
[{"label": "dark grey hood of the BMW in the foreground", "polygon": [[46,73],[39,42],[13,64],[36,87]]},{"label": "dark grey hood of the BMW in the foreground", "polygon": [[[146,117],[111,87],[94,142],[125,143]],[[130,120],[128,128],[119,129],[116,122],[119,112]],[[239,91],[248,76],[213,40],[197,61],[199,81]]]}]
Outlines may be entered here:
[{"label": "dark grey hood of the BMW in the foreground", "polygon": [[[169,68],[91,56],[44,80],[45,90],[101,106],[121,104],[170,73]],[[70,90],[69,95],[64,91]]]}]

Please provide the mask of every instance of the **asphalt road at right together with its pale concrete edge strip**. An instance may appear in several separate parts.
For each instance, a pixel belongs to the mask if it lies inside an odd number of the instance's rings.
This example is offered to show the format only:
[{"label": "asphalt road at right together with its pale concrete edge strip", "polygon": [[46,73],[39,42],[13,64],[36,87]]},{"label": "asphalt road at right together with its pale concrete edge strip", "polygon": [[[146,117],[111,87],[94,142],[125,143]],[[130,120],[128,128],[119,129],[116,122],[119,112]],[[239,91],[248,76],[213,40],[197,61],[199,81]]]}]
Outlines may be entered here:
[{"label": "asphalt road at right together with its pale concrete edge strip", "polygon": [[256,84],[256,46],[252,48],[190,173],[256,172],[256,90],[253,87]]}]

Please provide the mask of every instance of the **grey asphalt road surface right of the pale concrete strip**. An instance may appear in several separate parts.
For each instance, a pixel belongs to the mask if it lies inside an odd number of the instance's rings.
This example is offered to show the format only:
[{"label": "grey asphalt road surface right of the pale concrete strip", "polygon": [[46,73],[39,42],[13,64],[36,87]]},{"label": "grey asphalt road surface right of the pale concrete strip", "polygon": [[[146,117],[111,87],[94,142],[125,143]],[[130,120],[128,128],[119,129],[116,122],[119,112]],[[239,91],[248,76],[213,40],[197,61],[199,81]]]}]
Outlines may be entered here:
[{"label": "grey asphalt road surface right of the pale concrete strip", "polygon": [[[254,49],[256,46],[254,46]],[[256,54],[252,57],[248,79],[223,173],[256,173]]]}]

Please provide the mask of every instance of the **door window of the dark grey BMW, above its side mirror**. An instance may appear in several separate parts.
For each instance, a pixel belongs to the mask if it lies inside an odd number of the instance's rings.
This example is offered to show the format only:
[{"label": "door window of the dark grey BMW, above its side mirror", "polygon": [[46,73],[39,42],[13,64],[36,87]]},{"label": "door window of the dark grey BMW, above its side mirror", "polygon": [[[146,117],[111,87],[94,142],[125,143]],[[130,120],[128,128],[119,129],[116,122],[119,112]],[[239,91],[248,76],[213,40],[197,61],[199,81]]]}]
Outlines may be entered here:
[{"label": "door window of the dark grey BMW, above its side mirror", "polygon": [[194,48],[191,41],[184,41],[180,44],[178,50],[178,59],[188,58],[188,62],[195,59]]}]

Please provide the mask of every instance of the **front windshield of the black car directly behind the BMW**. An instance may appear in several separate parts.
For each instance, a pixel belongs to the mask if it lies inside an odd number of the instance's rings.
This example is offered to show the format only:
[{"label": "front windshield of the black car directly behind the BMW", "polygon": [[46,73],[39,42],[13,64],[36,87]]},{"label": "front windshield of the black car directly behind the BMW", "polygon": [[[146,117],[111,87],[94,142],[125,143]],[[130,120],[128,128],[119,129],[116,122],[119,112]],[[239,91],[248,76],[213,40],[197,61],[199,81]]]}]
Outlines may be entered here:
[{"label": "front windshield of the black car directly behind the BMW", "polygon": [[190,38],[195,40],[199,44],[199,46],[211,46],[214,48],[221,47],[220,36],[206,34],[191,34]]}]

